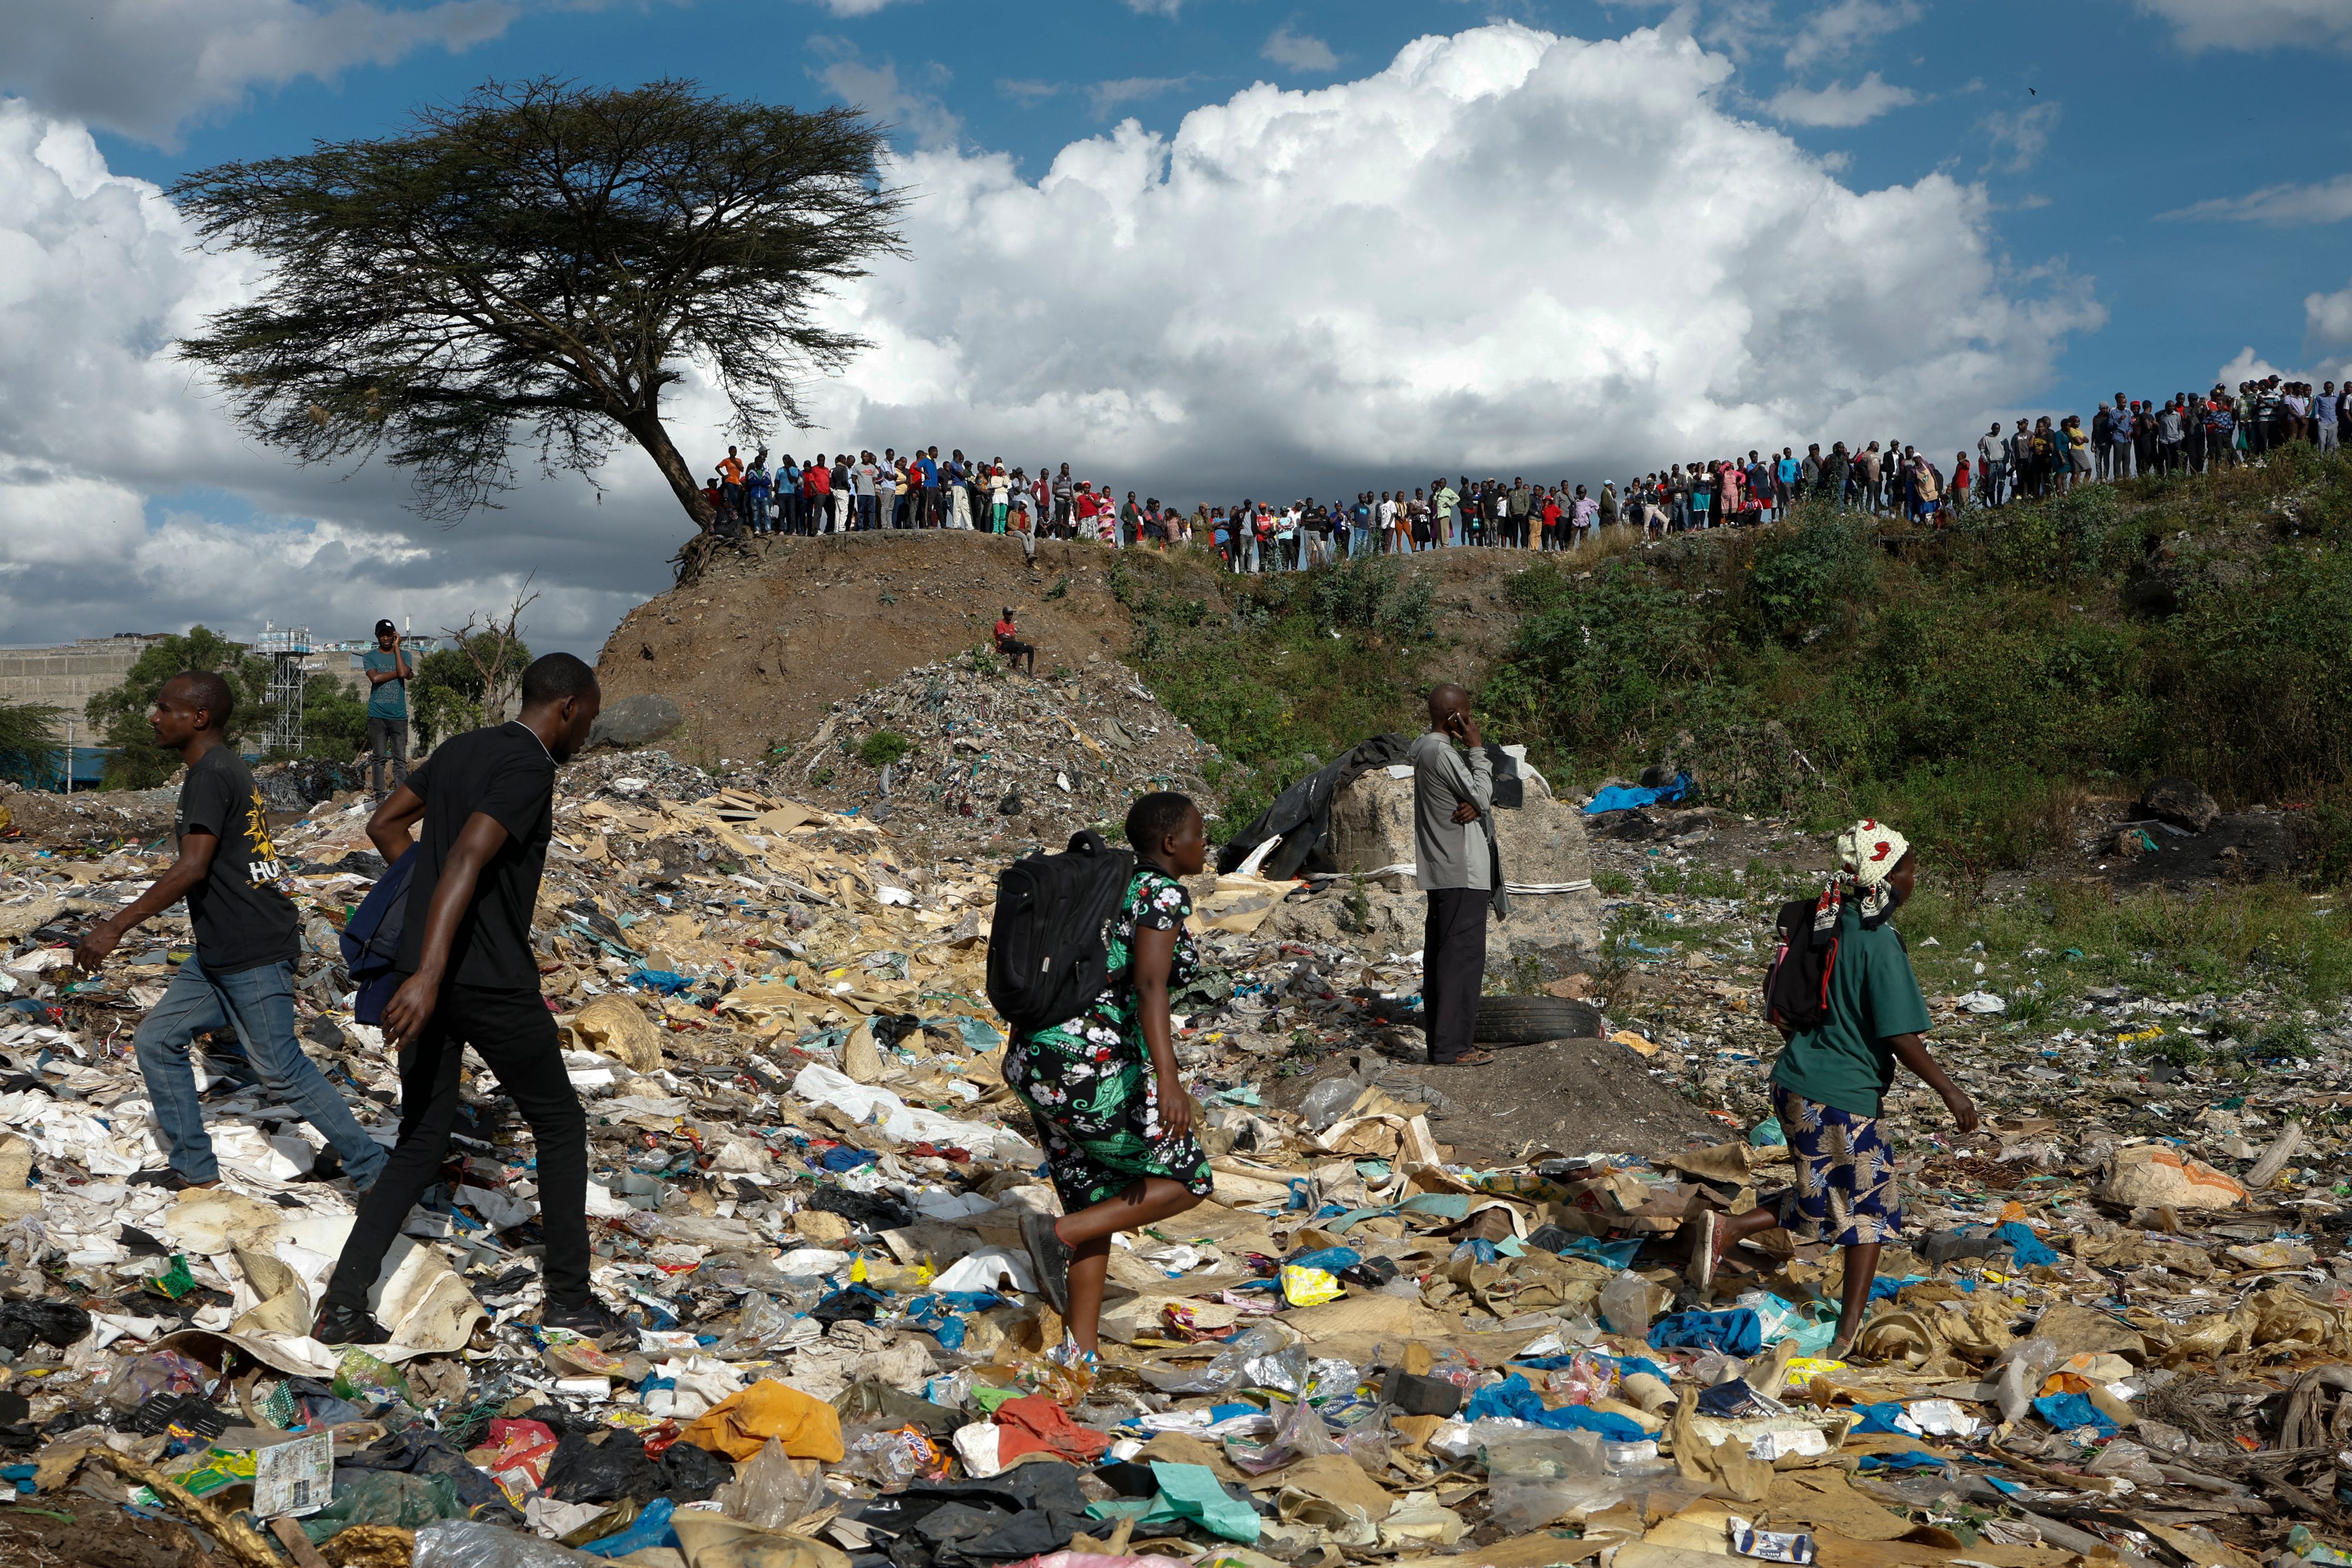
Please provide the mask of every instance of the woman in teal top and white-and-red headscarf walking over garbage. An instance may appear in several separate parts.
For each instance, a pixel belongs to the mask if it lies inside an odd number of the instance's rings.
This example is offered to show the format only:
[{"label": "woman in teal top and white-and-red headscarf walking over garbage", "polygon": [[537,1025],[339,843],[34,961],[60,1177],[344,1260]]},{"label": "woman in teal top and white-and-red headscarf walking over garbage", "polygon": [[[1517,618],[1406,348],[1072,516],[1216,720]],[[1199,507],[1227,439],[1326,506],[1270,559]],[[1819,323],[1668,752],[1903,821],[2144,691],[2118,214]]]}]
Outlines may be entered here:
[{"label": "woman in teal top and white-and-red headscarf walking over garbage", "polygon": [[[1708,1211],[1691,1244],[1689,1281],[1700,1293],[1715,1284],[1724,1248],[1773,1225],[1799,1241],[1832,1241],[1846,1248],[1846,1288],[1830,1359],[1853,1349],[1870,1309],[1879,1246],[1903,1234],[1903,1199],[1896,1190],[1896,1157],[1879,1131],[1879,1105],[1896,1081],[1896,1063],[1910,1067],[1943,1095],[1962,1133],[1976,1131],[1976,1103],[1943,1074],[1922,1039],[1929,1030],[1926,997],[1912,973],[1889,917],[1912,896],[1919,856],[1900,832],[1860,820],[1837,839],[1839,870],[1813,903],[1809,929],[1804,905],[1783,910],[1780,959],[1813,943],[1820,1006],[1795,1023],[1773,1016],[1788,1041],[1771,1070],[1771,1105],[1788,1133],[1797,1185],[1783,1199],[1785,1213],[1757,1206],[1740,1215]],[[1809,983],[1811,990],[1816,983]],[[1776,987],[1778,994],[1778,987]]]}]

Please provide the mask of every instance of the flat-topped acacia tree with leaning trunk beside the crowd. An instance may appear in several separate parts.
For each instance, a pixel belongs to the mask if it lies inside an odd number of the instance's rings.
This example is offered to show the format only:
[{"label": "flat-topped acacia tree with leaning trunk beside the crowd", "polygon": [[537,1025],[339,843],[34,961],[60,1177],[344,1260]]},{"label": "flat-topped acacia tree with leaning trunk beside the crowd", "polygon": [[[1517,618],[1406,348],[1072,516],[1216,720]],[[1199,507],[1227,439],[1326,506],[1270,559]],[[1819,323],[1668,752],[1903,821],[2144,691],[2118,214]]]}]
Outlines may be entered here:
[{"label": "flat-topped acacia tree with leaning trunk beside the crowd", "polygon": [[866,346],[818,301],[906,254],[882,148],[851,108],[492,82],[400,136],[172,186],[205,244],[270,263],[256,303],[179,353],[303,463],[412,468],[426,517],[496,505],[517,440],[590,475],[619,433],[708,529],[663,388],[696,364],[741,437],[807,423],[802,381]]}]

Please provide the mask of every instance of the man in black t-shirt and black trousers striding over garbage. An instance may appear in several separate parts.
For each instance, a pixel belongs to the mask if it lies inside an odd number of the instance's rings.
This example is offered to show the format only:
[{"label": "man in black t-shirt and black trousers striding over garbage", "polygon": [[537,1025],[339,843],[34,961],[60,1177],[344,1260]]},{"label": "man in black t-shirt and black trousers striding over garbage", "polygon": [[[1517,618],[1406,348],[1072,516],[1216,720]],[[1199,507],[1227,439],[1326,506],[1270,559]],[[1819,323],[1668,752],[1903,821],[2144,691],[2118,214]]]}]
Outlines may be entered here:
[{"label": "man in black t-shirt and black trousers striding over garbage", "polygon": [[367,823],[386,865],[409,853],[409,830],[423,825],[395,964],[407,980],[383,1006],[383,1039],[400,1048],[400,1143],[327,1281],[310,1326],[322,1345],[390,1338],[367,1312],[367,1293],[409,1208],[440,1178],[466,1046],[499,1074],[536,1143],[541,1326],[590,1338],[619,1328],[588,1293],[588,1112],[564,1074],[532,952],[555,764],[588,741],[597,705],[595,670],[548,654],[522,672],[522,717],[442,741]]}]

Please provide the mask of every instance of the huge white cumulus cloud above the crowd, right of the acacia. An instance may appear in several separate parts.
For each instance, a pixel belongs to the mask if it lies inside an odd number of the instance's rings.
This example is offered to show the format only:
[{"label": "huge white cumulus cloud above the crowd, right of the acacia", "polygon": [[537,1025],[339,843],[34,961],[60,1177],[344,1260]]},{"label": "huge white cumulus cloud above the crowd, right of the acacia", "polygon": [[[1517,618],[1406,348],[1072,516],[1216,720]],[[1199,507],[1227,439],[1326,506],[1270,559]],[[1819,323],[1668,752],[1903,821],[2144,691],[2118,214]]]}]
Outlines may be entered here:
[{"label": "huge white cumulus cloud above the crowd, right of the acacia", "polygon": [[1980,188],[1846,188],[1724,113],[1729,71],[1686,35],[1505,24],[1120,125],[1035,183],[917,153],[915,259],[844,299],[877,348],[830,423],[1188,501],[1597,480],[1980,430],[2103,320],[2060,268],[2004,270]]}]

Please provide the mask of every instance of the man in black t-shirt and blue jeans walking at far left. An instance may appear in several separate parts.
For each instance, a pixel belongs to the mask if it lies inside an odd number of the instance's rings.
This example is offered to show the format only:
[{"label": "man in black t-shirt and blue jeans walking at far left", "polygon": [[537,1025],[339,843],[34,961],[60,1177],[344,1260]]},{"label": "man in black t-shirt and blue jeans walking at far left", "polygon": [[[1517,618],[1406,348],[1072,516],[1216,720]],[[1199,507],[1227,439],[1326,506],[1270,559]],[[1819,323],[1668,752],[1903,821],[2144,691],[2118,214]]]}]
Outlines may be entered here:
[{"label": "man in black t-shirt and blue jeans walking at far left", "polygon": [[[179,785],[179,858],[120,914],[89,929],[73,961],[96,971],[132,926],[188,900],[195,952],[181,961],[162,1001],[139,1023],[139,1072],[155,1107],[155,1133],[167,1145],[162,1171],[141,1171],[134,1182],[155,1187],[212,1187],[221,1166],[205,1133],[188,1044],[207,1030],[235,1027],[261,1086],[301,1112],[367,1190],[383,1168],[383,1145],[350,1114],[343,1098],[294,1039],[294,900],[285,896],[285,865],[270,844],[261,792],[245,759],[228,745],[235,698],[228,682],[209,670],[188,670],[165,682],[148,712],[155,745],[167,745],[188,764]],[[322,1159],[313,1175],[327,1178]]]}]

